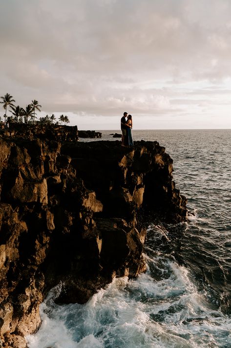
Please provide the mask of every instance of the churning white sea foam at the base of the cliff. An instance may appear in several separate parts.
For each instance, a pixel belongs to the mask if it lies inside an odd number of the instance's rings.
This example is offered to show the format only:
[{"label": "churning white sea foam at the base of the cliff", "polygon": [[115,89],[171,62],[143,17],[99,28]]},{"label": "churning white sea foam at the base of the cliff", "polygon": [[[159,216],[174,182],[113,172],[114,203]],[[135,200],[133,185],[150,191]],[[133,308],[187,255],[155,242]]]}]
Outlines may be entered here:
[{"label": "churning white sea foam at the base of the cliff", "polygon": [[[149,258],[148,262],[157,261]],[[231,345],[231,320],[208,307],[184,267],[168,258],[162,262],[166,273],[161,280],[153,281],[149,271],[136,280],[116,278],[83,305],[56,305],[51,294],[41,305],[40,330],[27,337],[28,347]]]}]

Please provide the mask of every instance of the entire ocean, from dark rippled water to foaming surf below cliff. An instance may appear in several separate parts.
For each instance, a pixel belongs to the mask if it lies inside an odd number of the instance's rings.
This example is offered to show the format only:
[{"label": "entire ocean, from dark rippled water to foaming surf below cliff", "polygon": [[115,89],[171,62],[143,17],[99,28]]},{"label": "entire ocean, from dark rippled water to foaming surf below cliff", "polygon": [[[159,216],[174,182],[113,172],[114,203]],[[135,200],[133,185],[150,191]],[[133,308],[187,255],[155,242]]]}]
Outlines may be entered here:
[{"label": "entire ocean, from dark rippled water to foaming surf below cliff", "polygon": [[57,305],[61,285],[52,289],[29,348],[231,348],[231,130],[134,130],[133,139],[166,147],[189,221],[149,226],[147,273],[135,280],[116,278],[85,304]]}]

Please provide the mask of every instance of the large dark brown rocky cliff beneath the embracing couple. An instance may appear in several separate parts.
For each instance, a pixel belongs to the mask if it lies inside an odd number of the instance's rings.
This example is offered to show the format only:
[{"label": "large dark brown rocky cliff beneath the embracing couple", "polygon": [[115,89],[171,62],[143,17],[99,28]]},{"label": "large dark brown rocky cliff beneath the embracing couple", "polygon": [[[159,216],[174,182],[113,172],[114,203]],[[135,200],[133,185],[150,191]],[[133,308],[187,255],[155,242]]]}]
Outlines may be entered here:
[{"label": "large dark brown rocky cliff beneath the embracing couple", "polygon": [[[0,335],[26,347],[39,305],[84,303],[114,276],[145,272],[139,215],[186,219],[172,160],[156,142],[0,138]],[[4,346],[5,345],[5,346]]]}]

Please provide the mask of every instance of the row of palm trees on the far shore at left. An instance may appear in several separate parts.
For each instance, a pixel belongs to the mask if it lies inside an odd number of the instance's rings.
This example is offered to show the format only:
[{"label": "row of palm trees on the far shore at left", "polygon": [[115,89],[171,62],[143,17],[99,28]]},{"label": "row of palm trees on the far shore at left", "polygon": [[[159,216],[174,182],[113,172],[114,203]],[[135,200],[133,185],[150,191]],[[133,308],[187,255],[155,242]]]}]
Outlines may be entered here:
[{"label": "row of palm trees on the far shore at left", "polygon": [[[39,120],[36,117],[36,111],[41,111],[42,105],[39,104],[38,100],[31,100],[31,103],[26,105],[25,108],[22,108],[20,105],[15,105],[15,99],[9,94],[6,93],[3,97],[0,97],[0,104],[3,104],[3,109],[5,113],[4,124],[7,123],[25,123],[25,124],[68,124],[70,121],[66,115],[60,115],[59,121],[56,121],[55,115],[52,114],[40,117]],[[11,116],[7,116],[7,109],[11,112]],[[2,123],[1,117],[0,122]]]}]

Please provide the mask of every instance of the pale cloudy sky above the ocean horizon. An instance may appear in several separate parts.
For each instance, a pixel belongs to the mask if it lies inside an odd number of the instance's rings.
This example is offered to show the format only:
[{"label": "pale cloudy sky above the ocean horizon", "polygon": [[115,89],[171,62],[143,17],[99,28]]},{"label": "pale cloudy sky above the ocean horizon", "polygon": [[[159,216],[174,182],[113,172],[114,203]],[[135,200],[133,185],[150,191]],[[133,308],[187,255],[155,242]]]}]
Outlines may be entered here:
[{"label": "pale cloudy sky above the ocean horizon", "polygon": [[0,96],[38,118],[231,128],[230,0],[3,0],[0,44]]}]

